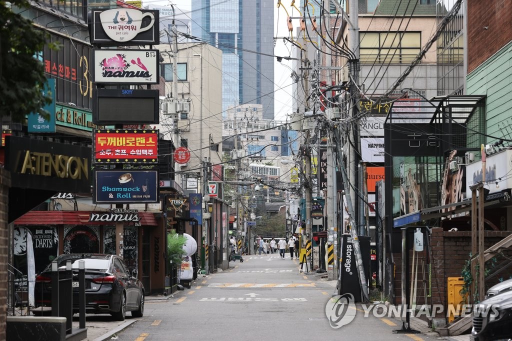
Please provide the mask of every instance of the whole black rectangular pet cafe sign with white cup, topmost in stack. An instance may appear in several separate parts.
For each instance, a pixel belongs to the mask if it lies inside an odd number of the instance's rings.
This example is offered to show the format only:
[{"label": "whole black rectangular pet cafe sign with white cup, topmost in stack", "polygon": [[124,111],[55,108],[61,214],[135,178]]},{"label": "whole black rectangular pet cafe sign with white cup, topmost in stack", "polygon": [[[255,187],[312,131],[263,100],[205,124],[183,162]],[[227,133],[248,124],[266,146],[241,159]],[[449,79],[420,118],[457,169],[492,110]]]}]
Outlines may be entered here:
[{"label": "whole black rectangular pet cafe sign with white cup, topmost in stack", "polygon": [[93,9],[91,43],[102,46],[158,45],[159,12],[135,8]]}]

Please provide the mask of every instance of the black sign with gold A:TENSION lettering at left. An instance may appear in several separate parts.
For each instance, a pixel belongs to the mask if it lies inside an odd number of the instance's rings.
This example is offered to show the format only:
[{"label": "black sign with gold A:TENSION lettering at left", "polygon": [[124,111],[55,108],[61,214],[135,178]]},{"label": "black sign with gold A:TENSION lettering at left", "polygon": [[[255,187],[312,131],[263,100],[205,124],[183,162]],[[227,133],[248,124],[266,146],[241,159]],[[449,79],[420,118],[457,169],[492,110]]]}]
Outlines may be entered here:
[{"label": "black sign with gold A:TENSION lettering at left", "polygon": [[91,190],[91,148],[9,136],[5,160],[13,187],[73,193]]}]

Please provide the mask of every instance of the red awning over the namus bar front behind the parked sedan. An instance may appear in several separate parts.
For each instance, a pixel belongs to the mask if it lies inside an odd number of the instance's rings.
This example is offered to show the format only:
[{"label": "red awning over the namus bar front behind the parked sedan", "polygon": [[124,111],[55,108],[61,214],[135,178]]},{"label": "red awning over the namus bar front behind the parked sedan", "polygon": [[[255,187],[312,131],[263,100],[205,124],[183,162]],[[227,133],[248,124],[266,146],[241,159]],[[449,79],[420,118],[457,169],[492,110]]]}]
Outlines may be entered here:
[{"label": "red awning over the namus bar front behind the parked sedan", "polygon": [[[115,222],[90,222],[90,211],[30,211],[14,221],[14,225],[115,225]],[[152,212],[138,212],[142,226],[158,226]],[[134,225],[134,223],[124,223]]]}]

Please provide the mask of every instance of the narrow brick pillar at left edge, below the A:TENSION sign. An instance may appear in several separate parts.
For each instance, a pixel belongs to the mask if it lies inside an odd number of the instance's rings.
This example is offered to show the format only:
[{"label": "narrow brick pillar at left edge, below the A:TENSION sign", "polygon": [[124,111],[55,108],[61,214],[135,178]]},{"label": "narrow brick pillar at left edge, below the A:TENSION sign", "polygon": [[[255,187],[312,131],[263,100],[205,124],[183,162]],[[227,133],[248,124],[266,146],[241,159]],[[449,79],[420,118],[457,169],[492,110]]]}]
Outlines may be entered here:
[{"label": "narrow brick pillar at left edge, below the A:TENSION sign", "polygon": [[[7,316],[7,254],[8,254],[8,233],[7,233],[7,203],[9,202],[9,187],[11,186],[10,173],[0,168],[0,340],[6,339],[6,316]],[[4,283],[4,284],[2,284]]]}]

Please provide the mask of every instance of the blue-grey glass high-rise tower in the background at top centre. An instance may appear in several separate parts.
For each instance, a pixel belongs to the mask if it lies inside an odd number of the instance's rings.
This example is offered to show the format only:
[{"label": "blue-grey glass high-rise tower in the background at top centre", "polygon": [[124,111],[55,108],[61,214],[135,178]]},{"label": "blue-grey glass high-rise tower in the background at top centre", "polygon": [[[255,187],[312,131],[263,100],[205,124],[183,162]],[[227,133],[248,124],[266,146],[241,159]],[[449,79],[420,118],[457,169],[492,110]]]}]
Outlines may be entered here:
[{"label": "blue-grey glass high-rise tower in the background at top centre", "polygon": [[271,0],[192,0],[192,34],[222,50],[222,110],[262,104],[274,118]]}]

